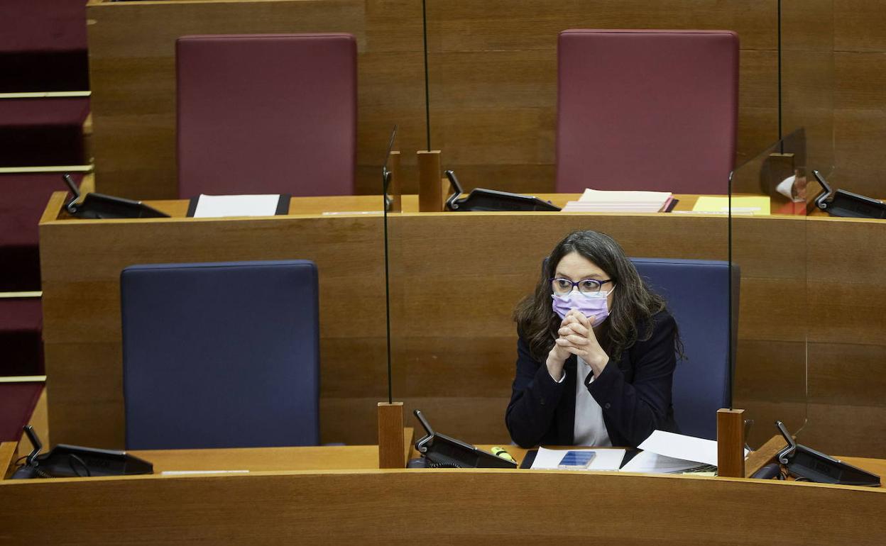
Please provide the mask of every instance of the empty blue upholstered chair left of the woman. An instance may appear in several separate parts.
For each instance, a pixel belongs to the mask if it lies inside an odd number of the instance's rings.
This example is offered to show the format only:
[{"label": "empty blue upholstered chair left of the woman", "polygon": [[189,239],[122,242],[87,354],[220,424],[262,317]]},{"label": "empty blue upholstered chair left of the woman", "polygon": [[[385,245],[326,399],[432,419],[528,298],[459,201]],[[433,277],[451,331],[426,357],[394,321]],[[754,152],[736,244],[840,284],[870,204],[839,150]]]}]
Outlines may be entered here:
[{"label": "empty blue upholstered chair left of the woman", "polygon": [[317,292],[307,260],[123,270],[127,449],[318,444]]}]

